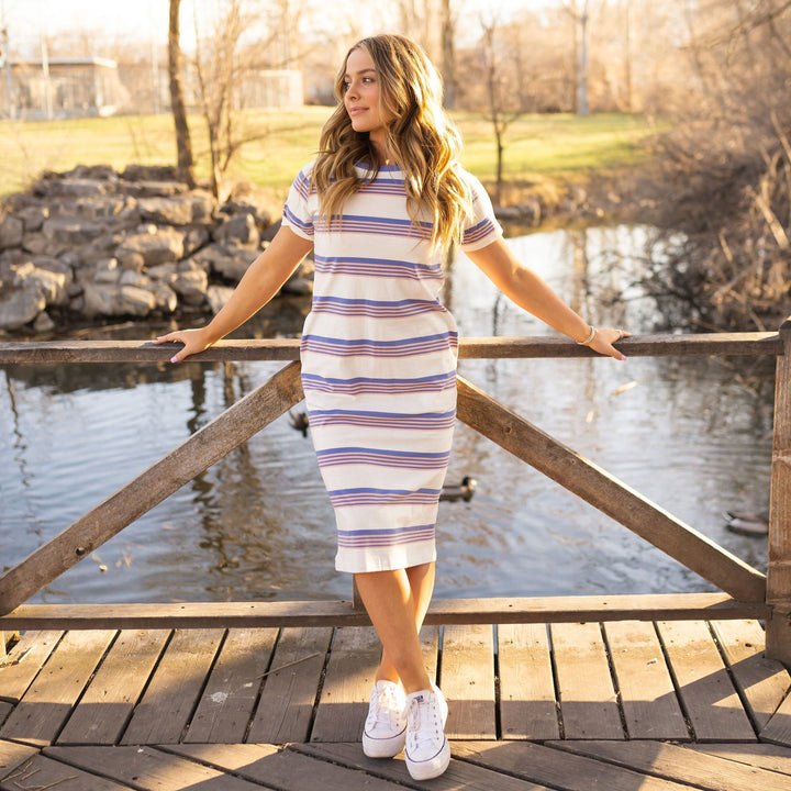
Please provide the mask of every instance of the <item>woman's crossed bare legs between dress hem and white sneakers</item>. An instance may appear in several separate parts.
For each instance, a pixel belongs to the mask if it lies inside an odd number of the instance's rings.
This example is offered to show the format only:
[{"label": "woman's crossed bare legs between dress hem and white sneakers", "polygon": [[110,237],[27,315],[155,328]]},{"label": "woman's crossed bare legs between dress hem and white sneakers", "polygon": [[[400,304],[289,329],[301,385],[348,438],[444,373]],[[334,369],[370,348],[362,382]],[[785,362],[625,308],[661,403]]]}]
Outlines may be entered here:
[{"label": "woman's crossed bare legs between dress hem and white sneakers", "polygon": [[434,564],[358,573],[355,579],[382,643],[377,680],[400,680],[408,693],[428,689],[419,631],[434,589]]}]

